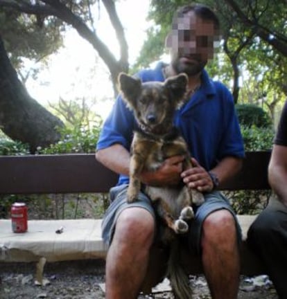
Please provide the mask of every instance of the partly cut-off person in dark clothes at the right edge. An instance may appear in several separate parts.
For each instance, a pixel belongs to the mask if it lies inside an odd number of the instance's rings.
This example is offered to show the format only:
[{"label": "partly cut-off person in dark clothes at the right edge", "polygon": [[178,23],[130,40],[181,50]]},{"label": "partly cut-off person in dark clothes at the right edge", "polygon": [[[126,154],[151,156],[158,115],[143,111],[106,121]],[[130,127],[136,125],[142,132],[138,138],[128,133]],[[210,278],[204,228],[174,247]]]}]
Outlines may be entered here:
[{"label": "partly cut-off person in dark clothes at the right edge", "polygon": [[287,298],[287,102],[279,121],[268,166],[268,181],[275,196],[256,218],[247,242],[261,257],[279,299]]}]

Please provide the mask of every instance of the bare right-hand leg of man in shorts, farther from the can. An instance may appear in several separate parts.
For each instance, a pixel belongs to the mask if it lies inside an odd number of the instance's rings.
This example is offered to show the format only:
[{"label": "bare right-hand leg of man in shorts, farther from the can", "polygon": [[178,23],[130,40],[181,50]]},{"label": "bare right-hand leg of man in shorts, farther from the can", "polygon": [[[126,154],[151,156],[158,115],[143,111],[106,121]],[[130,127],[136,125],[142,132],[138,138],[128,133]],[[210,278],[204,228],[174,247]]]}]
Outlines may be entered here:
[{"label": "bare right-hand leg of man in shorts, farther from the can", "polygon": [[234,218],[227,210],[211,213],[202,228],[202,263],[213,299],[236,299],[240,262]]}]

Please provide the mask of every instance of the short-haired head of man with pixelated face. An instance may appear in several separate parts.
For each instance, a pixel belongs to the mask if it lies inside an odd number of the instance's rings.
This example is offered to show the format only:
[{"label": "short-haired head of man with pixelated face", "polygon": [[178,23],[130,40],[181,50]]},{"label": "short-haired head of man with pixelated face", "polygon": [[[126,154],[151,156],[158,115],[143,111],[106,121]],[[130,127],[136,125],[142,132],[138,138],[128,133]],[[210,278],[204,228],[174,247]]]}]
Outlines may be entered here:
[{"label": "short-haired head of man with pixelated face", "polygon": [[171,65],[176,73],[200,73],[218,44],[219,21],[210,8],[194,4],[175,12],[166,47],[171,49]]}]

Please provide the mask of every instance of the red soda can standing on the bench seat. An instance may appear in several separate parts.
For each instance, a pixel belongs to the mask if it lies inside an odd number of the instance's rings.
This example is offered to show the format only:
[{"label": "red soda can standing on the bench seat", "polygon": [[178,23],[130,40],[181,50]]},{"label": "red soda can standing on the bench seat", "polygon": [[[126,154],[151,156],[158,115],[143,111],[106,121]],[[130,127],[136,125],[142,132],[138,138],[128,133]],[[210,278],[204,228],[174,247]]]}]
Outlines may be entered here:
[{"label": "red soda can standing on the bench seat", "polygon": [[25,233],[28,229],[28,212],[25,203],[13,203],[11,207],[12,231]]}]

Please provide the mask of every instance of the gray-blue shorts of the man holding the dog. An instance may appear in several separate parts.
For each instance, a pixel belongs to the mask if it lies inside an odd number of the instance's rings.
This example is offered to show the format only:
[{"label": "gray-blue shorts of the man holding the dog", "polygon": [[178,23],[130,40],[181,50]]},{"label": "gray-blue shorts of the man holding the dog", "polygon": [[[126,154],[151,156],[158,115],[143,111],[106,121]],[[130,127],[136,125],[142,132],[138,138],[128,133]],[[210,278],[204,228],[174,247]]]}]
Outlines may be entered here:
[{"label": "gray-blue shorts of the man holding the dog", "polygon": [[[139,193],[139,199],[134,203],[127,203],[126,192],[128,185],[119,185],[110,190],[110,207],[107,209],[103,218],[102,224],[102,237],[106,244],[112,242],[114,234],[114,228],[116,225],[116,219],[118,219],[120,213],[125,208],[140,207],[148,210],[150,214],[156,219],[155,210],[150,199],[143,192]],[[238,224],[238,220],[232,206],[228,199],[223,196],[221,192],[214,191],[205,193],[205,202],[201,206],[193,206],[195,212],[195,218],[191,221],[190,233],[189,233],[189,246],[192,250],[200,253],[200,239],[203,221],[205,218],[216,210],[226,209],[232,213],[236,222],[238,243],[241,242],[241,227]]]}]

